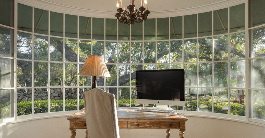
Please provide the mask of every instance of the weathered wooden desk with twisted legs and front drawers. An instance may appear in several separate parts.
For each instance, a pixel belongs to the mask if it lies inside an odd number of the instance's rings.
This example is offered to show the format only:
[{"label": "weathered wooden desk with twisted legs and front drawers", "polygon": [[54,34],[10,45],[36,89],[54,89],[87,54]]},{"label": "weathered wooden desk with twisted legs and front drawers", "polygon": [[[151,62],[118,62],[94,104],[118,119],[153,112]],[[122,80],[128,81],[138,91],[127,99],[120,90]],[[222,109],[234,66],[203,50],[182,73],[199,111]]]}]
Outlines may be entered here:
[{"label": "weathered wooden desk with twisted legs and front drawers", "polygon": [[[178,129],[179,137],[184,138],[185,122],[188,120],[181,115],[169,116],[167,113],[137,111],[139,108],[117,108],[119,129],[166,129],[170,136],[170,129]],[[67,118],[70,121],[69,129],[72,132],[70,138],[75,137],[75,130],[78,128],[86,129],[85,109],[74,113]],[[87,132],[86,132],[87,133]]]}]

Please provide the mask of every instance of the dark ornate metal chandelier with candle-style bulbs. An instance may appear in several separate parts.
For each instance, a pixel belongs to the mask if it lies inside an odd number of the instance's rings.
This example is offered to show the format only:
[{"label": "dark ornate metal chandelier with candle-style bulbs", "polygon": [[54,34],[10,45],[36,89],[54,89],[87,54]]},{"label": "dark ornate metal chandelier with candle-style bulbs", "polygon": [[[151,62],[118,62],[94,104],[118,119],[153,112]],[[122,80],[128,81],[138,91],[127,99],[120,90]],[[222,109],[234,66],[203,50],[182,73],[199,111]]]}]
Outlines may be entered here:
[{"label": "dark ornate metal chandelier with candle-style bulbs", "polygon": [[[145,5],[145,7],[143,5]],[[117,1],[116,6],[118,8],[117,9],[118,13],[115,14],[115,17],[117,17],[120,23],[125,23],[125,24],[142,23],[147,19],[147,16],[150,13],[150,11],[148,11],[147,9],[147,0],[144,1],[141,0],[141,7],[139,8],[139,11],[135,9],[134,0],[132,0],[130,5],[127,6],[127,9],[129,11],[125,10],[124,5],[122,7],[122,0],[120,0],[120,4]]]}]

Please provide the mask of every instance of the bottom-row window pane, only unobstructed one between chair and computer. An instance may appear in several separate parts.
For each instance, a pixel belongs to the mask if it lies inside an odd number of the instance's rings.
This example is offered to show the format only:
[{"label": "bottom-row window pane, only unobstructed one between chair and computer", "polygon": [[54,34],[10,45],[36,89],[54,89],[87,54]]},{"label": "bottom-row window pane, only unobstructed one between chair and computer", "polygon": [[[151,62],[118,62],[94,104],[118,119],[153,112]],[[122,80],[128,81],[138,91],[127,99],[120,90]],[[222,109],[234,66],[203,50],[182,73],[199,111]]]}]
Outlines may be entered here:
[{"label": "bottom-row window pane, only unobstructed one between chair and computer", "polygon": [[119,88],[119,107],[130,107],[130,88]]}]

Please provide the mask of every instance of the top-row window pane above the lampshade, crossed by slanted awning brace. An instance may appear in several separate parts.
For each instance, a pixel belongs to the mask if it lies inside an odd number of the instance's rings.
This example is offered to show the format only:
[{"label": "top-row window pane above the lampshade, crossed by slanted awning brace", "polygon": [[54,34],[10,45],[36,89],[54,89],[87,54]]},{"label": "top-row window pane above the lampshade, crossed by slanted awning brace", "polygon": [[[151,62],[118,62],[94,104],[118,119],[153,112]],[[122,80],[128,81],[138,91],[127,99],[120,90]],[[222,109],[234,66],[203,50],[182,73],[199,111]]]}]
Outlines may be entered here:
[{"label": "top-row window pane above the lampshade, crossed by slanted awning brace", "polygon": [[91,17],[79,16],[79,38],[91,39]]}]

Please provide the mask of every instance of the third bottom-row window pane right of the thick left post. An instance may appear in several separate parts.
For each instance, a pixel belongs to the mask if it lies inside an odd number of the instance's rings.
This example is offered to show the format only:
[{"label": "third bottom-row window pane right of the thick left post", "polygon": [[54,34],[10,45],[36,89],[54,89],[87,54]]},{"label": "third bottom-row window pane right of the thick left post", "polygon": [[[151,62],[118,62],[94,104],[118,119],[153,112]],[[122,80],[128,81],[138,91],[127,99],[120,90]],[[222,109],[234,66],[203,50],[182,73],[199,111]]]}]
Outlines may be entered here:
[{"label": "third bottom-row window pane right of the thick left post", "polygon": [[64,110],[62,88],[50,88],[50,112]]}]

